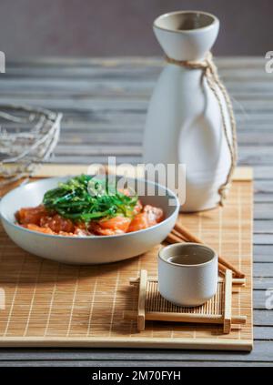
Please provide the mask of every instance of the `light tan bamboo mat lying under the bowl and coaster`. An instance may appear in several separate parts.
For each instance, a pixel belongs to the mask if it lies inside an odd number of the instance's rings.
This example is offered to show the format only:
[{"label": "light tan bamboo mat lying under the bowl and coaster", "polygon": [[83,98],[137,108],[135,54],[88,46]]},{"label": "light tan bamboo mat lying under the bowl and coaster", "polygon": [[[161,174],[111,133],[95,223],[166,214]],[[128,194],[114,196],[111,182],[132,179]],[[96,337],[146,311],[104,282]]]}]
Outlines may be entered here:
[{"label": "light tan bamboo mat lying under the bowl and coaster", "polygon": [[[51,166],[53,167],[53,166]],[[51,168],[54,175],[58,167]],[[62,168],[61,172],[64,172]],[[44,175],[43,175],[44,172]],[[48,176],[41,171],[42,176]],[[137,307],[129,285],[141,268],[157,275],[157,251],[109,265],[76,267],[36,258],[0,228],[0,346],[126,347],[208,350],[252,348],[252,173],[238,169],[225,208],[182,214],[180,220],[246,273],[247,285],[233,295],[232,311],[247,324],[228,335],[219,326],[123,318]]]}]

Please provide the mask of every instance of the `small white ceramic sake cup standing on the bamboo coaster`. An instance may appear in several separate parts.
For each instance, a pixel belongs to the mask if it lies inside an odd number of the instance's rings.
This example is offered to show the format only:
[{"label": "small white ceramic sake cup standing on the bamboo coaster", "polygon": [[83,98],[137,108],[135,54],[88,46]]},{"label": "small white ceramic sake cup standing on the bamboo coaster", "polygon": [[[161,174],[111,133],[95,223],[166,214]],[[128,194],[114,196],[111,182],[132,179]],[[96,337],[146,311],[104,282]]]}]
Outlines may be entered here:
[{"label": "small white ceramic sake cup standing on the bamboo coaster", "polygon": [[217,253],[207,246],[177,243],[161,248],[158,253],[159,292],[178,306],[202,305],[217,292],[217,270]]}]

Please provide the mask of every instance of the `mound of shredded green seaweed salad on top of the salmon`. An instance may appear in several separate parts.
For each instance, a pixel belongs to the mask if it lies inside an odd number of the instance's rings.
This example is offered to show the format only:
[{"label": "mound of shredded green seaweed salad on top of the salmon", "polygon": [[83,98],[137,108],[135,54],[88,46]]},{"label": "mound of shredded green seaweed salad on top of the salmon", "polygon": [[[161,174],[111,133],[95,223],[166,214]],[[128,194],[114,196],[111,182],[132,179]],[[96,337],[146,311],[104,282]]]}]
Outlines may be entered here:
[{"label": "mound of shredded green seaweed salad on top of the salmon", "polygon": [[54,209],[64,218],[89,222],[118,215],[132,217],[138,197],[126,196],[110,183],[81,175],[45,193],[45,208]]}]

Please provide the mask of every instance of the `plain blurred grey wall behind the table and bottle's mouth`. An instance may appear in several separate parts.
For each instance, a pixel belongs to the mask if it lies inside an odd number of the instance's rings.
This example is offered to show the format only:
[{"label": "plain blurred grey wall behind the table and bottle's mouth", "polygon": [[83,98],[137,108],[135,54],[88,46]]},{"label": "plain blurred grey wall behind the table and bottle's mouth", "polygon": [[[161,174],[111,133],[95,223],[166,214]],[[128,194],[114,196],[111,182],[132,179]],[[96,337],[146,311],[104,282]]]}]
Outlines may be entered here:
[{"label": "plain blurred grey wall behind the table and bottle's mouth", "polygon": [[0,0],[0,50],[16,56],[160,55],[153,20],[178,9],[220,18],[217,55],[273,50],[272,0]]}]

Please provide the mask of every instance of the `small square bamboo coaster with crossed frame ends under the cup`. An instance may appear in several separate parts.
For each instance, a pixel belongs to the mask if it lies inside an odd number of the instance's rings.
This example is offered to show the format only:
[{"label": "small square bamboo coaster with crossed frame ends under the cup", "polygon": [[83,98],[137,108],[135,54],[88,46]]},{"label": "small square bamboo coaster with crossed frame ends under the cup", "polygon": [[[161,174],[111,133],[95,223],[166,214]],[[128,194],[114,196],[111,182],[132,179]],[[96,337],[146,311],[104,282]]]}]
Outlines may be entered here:
[{"label": "small square bamboo coaster with crossed frame ends under the cup", "polygon": [[233,279],[227,269],[225,277],[218,279],[217,294],[204,305],[195,308],[180,307],[164,299],[157,289],[157,278],[148,278],[147,270],[141,270],[139,278],[130,279],[130,284],[138,287],[137,312],[124,311],[124,318],[136,319],[137,330],[145,330],[147,320],[207,323],[223,326],[223,333],[229,334],[245,324],[246,316],[232,315],[232,293],[234,285],[245,285],[246,279]]}]

